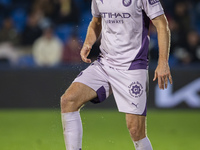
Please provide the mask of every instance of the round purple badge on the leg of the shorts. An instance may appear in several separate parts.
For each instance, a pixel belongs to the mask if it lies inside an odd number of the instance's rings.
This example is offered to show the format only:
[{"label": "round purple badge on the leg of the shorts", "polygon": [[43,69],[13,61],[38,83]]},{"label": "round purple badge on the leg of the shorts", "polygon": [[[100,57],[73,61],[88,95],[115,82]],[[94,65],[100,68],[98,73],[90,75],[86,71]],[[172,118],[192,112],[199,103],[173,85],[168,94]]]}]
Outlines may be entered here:
[{"label": "round purple badge on the leg of the shorts", "polygon": [[143,86],[138,81],[132,82],[131,85],[129,85],[129,93],[131,96],[138,98],[143,94]]}]

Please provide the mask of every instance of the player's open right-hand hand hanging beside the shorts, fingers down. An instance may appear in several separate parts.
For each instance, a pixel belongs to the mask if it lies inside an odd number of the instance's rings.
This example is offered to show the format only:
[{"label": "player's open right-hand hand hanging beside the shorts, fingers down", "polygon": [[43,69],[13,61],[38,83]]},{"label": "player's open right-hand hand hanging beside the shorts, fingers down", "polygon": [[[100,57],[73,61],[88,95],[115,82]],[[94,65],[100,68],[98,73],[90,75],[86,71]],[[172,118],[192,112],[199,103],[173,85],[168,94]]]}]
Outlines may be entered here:
[{"label": "player's open right-hand hand hanging beside the shorts, fingers down", "polygon": [[168,85],[168,80],[170,84],[172,84],[172,76],[170,73],[169,65],[168,63],[162,63],[158,64],[156,70],[155,70],[155,75],[153,81],[158,79],[158,86],[160,89],[165,89],[167,88]]}]

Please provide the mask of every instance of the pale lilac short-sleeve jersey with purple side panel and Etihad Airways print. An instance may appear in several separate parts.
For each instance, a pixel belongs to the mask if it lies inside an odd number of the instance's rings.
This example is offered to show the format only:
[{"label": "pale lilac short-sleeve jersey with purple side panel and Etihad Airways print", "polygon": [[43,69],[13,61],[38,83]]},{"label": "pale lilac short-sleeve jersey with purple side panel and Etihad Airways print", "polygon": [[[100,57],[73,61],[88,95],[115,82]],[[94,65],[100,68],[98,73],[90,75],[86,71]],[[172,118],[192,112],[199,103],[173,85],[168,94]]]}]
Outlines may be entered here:
[{"label": "pale lilac short-sleeve jersey with purple side panel and Etihad Airways print", "polygon": [[164,14],[159,0],[92,0],[102,18],[99,61],[113,68],[148,68],[149,22]]}]

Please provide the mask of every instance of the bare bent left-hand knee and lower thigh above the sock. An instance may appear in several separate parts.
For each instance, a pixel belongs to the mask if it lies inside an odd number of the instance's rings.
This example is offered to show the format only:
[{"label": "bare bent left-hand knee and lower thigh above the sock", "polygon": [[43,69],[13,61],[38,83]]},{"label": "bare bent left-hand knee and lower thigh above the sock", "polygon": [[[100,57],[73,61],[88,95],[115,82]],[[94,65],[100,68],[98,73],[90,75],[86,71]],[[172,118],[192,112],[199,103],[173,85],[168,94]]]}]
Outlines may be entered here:
[{"label": "bare bent left-hand knee and lower thigh above the sock", "polygon": [[61,107],[75,105],[81,107],[84,103],[97,97],[97,93],[87,85],[73,82],[61,97]]}]

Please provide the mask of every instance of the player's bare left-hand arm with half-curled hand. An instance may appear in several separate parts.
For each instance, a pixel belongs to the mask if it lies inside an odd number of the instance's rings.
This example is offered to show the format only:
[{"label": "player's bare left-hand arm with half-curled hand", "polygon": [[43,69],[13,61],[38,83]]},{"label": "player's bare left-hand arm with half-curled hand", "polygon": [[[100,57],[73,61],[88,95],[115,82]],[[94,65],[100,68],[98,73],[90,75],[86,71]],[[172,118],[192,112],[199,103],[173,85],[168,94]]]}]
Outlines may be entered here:
[{"label": "player's bare left-hand arm with half-curled hand", "polygon": [[101,18],[93,17],[90,22],[87,30],[87,35],[83,47],[81,49],[80,55],[84,62],[91,63],[91,60],[88,59],[88,55],[93,44],[99,38],[101,33]]}]

